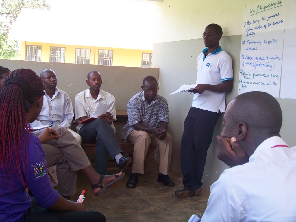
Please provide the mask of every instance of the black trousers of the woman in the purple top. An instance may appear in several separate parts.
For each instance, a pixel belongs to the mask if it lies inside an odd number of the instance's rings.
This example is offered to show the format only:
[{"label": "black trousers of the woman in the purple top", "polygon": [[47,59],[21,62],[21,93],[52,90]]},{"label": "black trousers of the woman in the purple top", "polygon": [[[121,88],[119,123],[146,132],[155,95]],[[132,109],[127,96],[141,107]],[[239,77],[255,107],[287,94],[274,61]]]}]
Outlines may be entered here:
[{"label": "black trousers of the woman in the purple top", "polygon": [[52,211],[39,207],[35,199],[31,197],[31,207],[25,214],[22,222],[105,222],[104,215],[97,211]]}]

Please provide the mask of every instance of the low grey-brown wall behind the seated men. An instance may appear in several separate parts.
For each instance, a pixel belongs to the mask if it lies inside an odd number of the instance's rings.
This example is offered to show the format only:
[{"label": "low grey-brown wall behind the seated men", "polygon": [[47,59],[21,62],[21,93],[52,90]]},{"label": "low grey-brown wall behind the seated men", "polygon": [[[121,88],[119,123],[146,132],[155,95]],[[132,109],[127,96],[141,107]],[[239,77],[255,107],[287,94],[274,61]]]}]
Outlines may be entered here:
[{"label": "low grey-brown wall behind the seated men", "polygon": [[103,65],[81,65],[69,63],[31,62],[20,60],[0,59],[0,66],[11,71],[18,68],[32,69],[37,75],[44,69],[52,69],[57,74],[57,88],[70,95],[75,109],[75,96],[88,89],[86,84],[87,74],[90,71],[99,71],[103,83],[101,89],[111,93],[116,99],[116,109],[126,110],[129,99],[142,91],[141,85],[147,75],[152,75],[158,80],[159,69],[135,68]]}]

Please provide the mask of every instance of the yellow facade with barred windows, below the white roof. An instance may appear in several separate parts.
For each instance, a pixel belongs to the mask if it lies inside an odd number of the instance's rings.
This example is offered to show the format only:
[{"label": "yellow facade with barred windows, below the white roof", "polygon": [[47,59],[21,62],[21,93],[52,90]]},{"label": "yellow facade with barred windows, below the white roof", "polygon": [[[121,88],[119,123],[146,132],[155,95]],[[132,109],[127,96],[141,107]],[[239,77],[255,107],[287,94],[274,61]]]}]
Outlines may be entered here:
[{"label": "yellow facade with barred windows, below the white roof", "polygon": [[21,41],[20,59],[37,62],[150,67],[152,50]]}]

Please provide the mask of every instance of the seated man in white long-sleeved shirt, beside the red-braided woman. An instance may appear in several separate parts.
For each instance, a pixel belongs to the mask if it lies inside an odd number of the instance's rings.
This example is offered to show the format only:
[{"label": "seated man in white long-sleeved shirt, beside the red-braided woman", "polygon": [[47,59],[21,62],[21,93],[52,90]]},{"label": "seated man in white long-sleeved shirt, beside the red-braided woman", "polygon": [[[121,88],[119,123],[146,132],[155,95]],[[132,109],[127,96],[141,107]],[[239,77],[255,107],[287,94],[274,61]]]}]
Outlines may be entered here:
[{"label": "seated man in white long-sleeved shirt, beside the red-braided woman", "polygon": [[62,126],[65,127],[81,143],[81,136],[70,130],[74,117],[73,106],[70,96],[57,88],[57,75],[50,69],[40,73],[45,86],[43,96],[43,107],[38,118],[31,123],[31,127],[36,126]]}]

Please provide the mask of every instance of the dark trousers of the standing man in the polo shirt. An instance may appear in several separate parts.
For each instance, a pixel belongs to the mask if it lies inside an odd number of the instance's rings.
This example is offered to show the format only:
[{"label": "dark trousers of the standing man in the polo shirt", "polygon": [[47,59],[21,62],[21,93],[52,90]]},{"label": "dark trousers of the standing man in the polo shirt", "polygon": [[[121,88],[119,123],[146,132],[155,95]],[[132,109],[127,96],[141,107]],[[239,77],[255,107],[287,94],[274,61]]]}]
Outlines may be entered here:
[{"label": "dark trousers of the standing man in the polo shirt", "polygon": [[207,150],[213,138],[215,125],[221,115],[217,112],[191,107],[184,121],[181,139],[181,169],[184,187],[202,186]]}]

